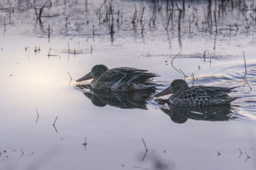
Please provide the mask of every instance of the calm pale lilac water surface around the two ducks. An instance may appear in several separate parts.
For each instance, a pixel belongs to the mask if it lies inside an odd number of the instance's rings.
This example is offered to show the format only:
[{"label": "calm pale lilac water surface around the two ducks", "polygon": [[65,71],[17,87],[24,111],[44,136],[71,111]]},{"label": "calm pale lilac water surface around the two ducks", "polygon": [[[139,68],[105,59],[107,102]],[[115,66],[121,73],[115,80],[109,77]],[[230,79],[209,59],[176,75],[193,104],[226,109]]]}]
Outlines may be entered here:
[{"label": "calm pale lilac water surface around the two ducks", "polygon": [[[256,168],[255,12],[248,10],[250,1],[244,10],[250,28],[237,4],[219,13],[213,1],[212,22],[207,22],[208,3],[189,1],[180,31],[177,6],[182,3],[174,5],[166,29],[170,2],[166,11],[166,1],[107,1],[100,21],[96,13],[103,1],[88,1],[87,7],[83,0],[65,2],[52,0],[50,6],[48,1],[40,22],[29,1],[0,0],[0,169]],[[32,3],[39,14],[44,3]],[[112,35],[111,21],[104,22],[110,4]],[[134,4],[138,22],[132,24]],[[169,108],[163,100],[169,96],[97,94],[86,86],[90,81],[82,89],[74,81],[99,63],[127,66],[161,75],[154,79],[162,84],[160,91],[184,78],[171,62],[188,76],[189,85],[242,86],[230,93],[240,98],[228,107]]]}]

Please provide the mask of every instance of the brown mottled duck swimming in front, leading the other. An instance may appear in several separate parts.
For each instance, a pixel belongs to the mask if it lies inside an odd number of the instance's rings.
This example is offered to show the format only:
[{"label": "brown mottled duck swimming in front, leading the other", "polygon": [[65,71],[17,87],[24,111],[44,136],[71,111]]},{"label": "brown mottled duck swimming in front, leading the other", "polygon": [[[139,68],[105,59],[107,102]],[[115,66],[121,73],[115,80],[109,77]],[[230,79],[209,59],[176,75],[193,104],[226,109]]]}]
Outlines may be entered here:
[{"label": "brown mottled duck swimming in front, leading the other", "polygon": [[99,64],[94,65],[88,74],[76,82],[93,79],[90,86],[96,91],[139,91],[155,88],[157,84],[151,78],[159,75],[146,73],[147,71],[130,67],[108,69],[107,66]]}]

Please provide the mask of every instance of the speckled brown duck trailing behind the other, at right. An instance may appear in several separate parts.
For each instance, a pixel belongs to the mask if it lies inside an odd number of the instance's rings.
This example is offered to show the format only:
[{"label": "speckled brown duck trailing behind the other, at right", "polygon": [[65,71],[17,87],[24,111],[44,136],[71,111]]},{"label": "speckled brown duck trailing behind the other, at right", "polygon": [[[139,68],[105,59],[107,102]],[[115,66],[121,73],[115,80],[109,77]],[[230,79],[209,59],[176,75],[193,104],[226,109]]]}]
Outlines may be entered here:
[{"label": "speckled brown duck trailing behind the other, at right", "polygon": [[154,97],[160,97],[172,94],[168,102],[175,106],[198,106],[198,105],[224,105],[238,99],[239,97],[230,97],[227,93],[234,88],[219,86],[191,86],[183,79],[175,79],[165,90],[157,93]]}]

